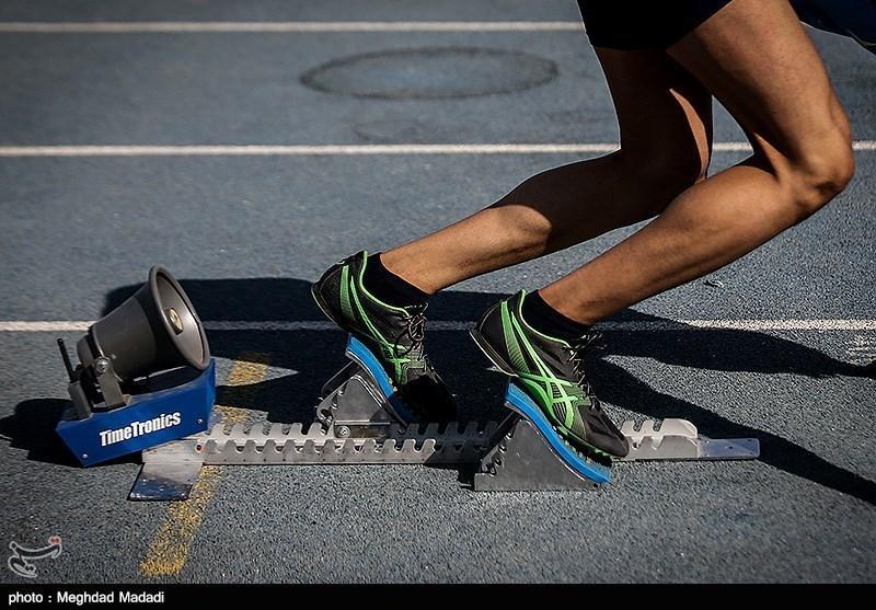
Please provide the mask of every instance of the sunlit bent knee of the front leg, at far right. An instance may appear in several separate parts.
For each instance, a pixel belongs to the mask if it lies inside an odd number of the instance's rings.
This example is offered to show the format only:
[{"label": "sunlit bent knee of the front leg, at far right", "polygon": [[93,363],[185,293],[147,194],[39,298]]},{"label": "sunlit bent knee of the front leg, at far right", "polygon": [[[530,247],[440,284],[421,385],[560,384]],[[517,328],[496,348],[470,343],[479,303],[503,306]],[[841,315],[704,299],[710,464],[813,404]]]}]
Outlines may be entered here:
[{"label": "sunlit bent knee of the front leg, at far right", "polygon": [[842,193],[855,173],[852,140],[841,130],[807,141],[805,149],[788,161],[787,183],[798,220]]}]

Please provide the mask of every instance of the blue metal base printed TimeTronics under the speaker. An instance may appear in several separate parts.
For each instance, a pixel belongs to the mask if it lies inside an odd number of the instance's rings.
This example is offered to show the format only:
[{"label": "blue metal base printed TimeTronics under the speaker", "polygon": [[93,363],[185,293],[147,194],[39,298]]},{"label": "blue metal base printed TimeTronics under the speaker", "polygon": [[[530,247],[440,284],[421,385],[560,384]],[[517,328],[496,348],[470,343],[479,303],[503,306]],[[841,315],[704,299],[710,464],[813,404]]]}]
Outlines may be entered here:
[{"label": "blue metal base printed TimeTronics under the speaker", "polygon": [[216,402],[215,360],[194,379],[191,369],[181,369],[151,378],[150,385],[157,389],[131,395],[127,406],[94,412],[88,419],[66,416],[58,423],[58,435],[82,465],[207,429]]}]

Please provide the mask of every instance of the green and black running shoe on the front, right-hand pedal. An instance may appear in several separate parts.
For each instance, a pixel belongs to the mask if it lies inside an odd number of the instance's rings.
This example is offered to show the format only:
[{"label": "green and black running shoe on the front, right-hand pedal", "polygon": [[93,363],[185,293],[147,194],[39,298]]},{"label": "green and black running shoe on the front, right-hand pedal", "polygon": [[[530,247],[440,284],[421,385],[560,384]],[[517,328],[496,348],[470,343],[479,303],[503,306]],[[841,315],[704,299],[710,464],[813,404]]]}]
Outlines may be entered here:
[{"label": "green and black running shoe on the front, right-hand pedal", "polygon": [[523,392],[569,442],[585,452],[626,456],[626,437],[585,380],[584,352],[596,333],[575,343],[542,334],[523,320],[525,298],[521,290],[489,308],[472,331],[475,343],[503,372],[517,378]]}]

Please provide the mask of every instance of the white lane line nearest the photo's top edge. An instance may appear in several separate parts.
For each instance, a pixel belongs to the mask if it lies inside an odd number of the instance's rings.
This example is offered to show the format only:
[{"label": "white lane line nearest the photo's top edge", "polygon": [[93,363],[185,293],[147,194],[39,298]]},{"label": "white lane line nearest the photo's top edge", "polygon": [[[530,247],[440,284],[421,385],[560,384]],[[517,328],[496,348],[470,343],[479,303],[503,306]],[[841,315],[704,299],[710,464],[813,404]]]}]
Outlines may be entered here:
[{"label": "white lane line nearest the photo's top edge", "polygon": [[5,22],[14,34],[227,34],[331,32],[584,32],[580,21],[101,21]]}]

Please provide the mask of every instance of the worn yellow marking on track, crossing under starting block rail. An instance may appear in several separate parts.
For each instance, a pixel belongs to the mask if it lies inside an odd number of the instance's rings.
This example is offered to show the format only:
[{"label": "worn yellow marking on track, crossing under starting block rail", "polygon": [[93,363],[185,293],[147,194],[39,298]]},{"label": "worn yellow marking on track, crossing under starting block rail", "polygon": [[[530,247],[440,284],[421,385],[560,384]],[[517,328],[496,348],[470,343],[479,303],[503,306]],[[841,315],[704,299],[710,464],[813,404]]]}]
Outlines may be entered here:
[{"label": "worn yellow marking on track, crossing under starting block rail", "polygon": [[[238,357],[228,376],[229,389],[222,396],[228,404],[216,406],[224,424],[245,421],[250,413],[247,407],[255,403],[257,383],[267,375],[268,364],[268,355],[261,352],[244,352]],[[140,563],[143,576],[173,576],[185,567],[189,549],[204,520],[204,511],[219,485],[221,474],[221,467],[204,467],[189,498],[173,503],[168,508]]]}]

